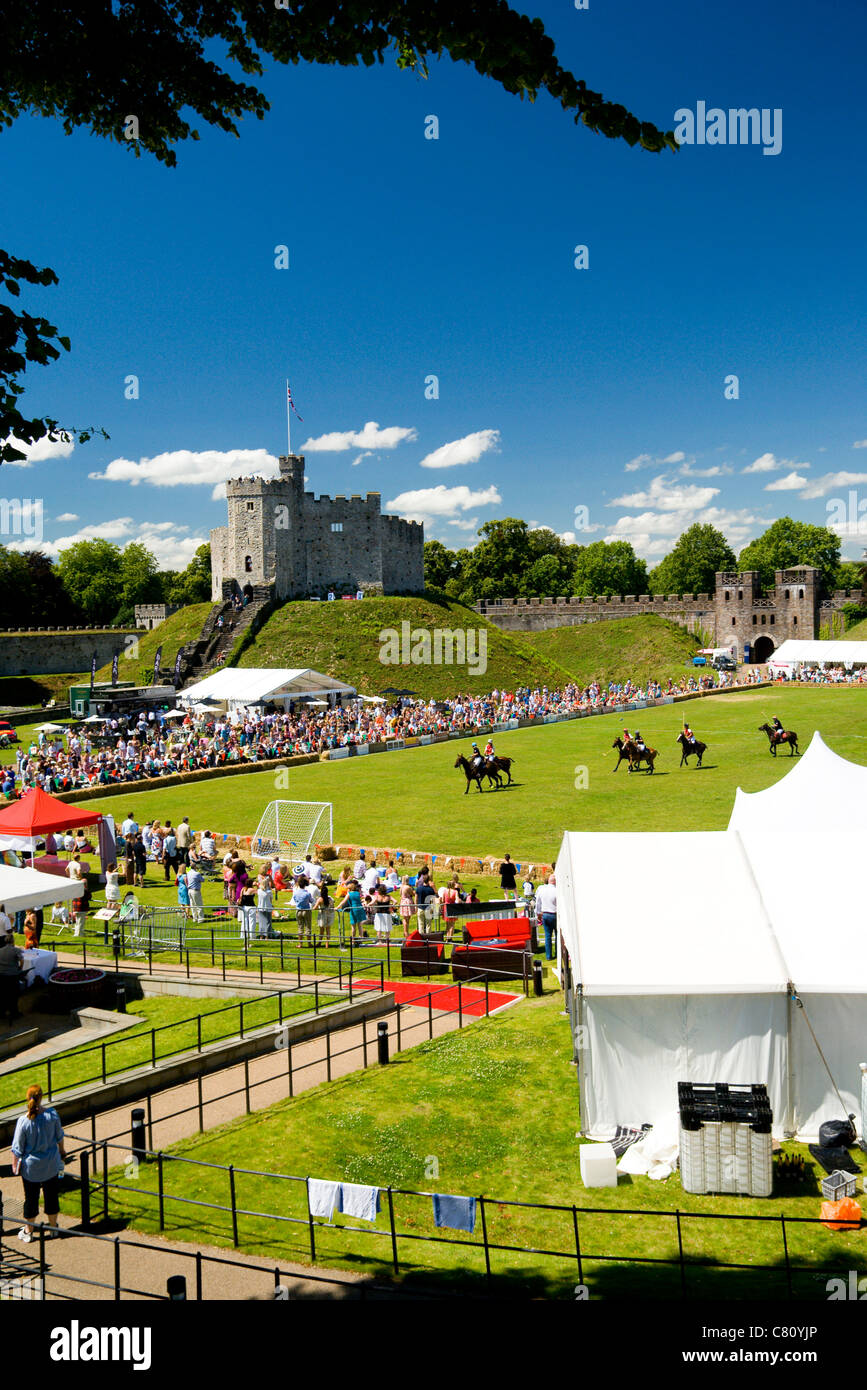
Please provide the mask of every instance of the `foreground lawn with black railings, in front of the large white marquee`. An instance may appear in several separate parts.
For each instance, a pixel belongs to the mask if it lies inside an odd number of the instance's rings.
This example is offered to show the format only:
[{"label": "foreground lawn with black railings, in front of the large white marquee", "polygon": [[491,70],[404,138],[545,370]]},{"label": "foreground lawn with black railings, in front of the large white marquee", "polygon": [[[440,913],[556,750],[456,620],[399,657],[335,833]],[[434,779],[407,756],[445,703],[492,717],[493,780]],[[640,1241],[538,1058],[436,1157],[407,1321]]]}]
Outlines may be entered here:
[{"label": "foreground lawn with black railings, in front of the large white marquee", "polygon": [[[571,1065],[570,1031],[560,1017],[561,995],[529,999],[489,1020],[472,1023],[431,1042],[421,1041],[395,1065],[357,1072],[331,1086],[320,1086],[268,1111],[186,1140],[174,1152],[211,1163],[238,1163],[265,1173],[308,1173],[356,1183],[406,1187],[415,1191],[489,1194],[500,1200],[575,1202],[592,1208],[579,1215],[585,1252],[643,1255],[677,1261],[677,1227],[671,1218],[647,1216],[642,1222],[614,1218],[611,1208],[647,1211],[816,1216],[814,1186],[789,1187],[771,1198],[725,1198],[684,1193],[678,1176],[666,1183],[646,1177],[622,1179],[618,1188],[585,1188],[578,1179],[578,1093]],[[424,1038],[424,1031],[414,1034]],[[413,1037],[408,1038],[413,1042]],[[791,1152],[806,1150],[786,1145]],[[853,1151],[856,1159],[857,1150]],[[432,1162],[436,1169],[432,1170]],[[863,1155],[860,1156],[864,1163]],[[436,1176],[434,1176],[434,1172]],[[208,1168],[178,1165],[170,1169],[172,1194],[197,1201],[226,1202],[226,1175]],[[121,1179],[122,1180],[122,1179]],[[140,1230],[156,1230],[156,1201],[149,1193],[153,1170],[142,1172],[136,1193],[113,1194],[118,1208]],[[304,1216],[302,1184],[265,1177],[238,1179],[238,1205]],[[72,1194],[71,1194],[72,1197]],[[386,1202],[383,1201],[383,1208]],[[224,1212],[168,1204],[167,1234],[175,1238],[231,1245],[231,1218]],[[429,1198],[395,1197],[399,1232],[436,1234]],[[486,1204],[492,1243],[534,1245],[563,1251],[557,1261],[543,1255],[492,1252],[495,1273],[514,1282],[515,1291],[545,1297],[574,1297],[577,1268],[571,1211],[532,1212]],[[317,1227],[317,1259],[322,1265],[349,1266],[368,1273],[390,1273],[390,1243],[364,1232],[342,1232],[347,1223]],[[358,1226],[358,1222],[350,1222]],[[276,1225],[240,1218],[243,1250],[274,1261],[310,1261],[306,1225]],[[388,1230],[388,1208],[377,1220]],[[447,1280],[454,1291],[484,1275],[484,1255],[457,1232],[442,1232],[454,1244],[399,1241],[404,1277],[415,1275],[425,1284]],[[477,1225],[474,1240],[481,1238]],[[864,1266],[859,1233],[834,1234],[818,1226],[791,1226],[791,1258],[799,1264],[838,1262]],[[688,1259],[702,1257],[750,1265],[781,1264],[777,1225],[684,1223]],[[678,1298],[677,1266],[642,1268],[593,1262],[585,1254],[585,1282],[596,1297],[643,1294]],[[802,1295],[824,1297],[825,1275],[796,1276]],[[692,1297],[728,1295],[773,1298],[785,1295],[782,1268],[774,1272],[702,1270],[688,1276]],[[500,1291],[503,1286],[500,1284]]]}]

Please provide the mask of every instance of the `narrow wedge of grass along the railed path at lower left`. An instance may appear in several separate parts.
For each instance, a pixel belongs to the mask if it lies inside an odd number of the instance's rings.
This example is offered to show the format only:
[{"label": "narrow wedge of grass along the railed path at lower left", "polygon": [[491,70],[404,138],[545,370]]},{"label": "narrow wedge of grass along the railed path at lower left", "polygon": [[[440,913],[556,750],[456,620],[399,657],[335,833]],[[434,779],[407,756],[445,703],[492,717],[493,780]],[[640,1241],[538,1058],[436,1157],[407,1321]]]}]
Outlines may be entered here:
[{"label": "narrow wedge of grass along the railed path at lower left", "polygon": [[[321,1006],[335,1001],[322,999]],[[290,994],[283,998],[283,1017],[306,1013],[313,1009],[311,994]],[[201,1017],[201,1041],[217,1042],[220,1038],[235,1037],[240,1029],[240,1001],[238,998],[193,999],[182,997],[161,997],[136,999],[128,1005],[128,1013],[140,1017],[140,1023],[125,1033],[106,1037],[106,1074],[129,1072],[136,1066],[147,1066],[151,1056],[171,1056],[176,1052],[195,1051],[197,1047]],[[243,1001],[245,1033],[261,1029],[278,1019],[278,1001],[274,998],[250,998]],[[151,1054],[150,1030],[160,1029],[156,1037],[156,1052]],[[103,1076],[101,1045],[82,1044],[58,1052],[51,1058],[51,1091],[60,1095],[75,1086],[99,1081]],[[0,1111],[21,1101],[28,1086],[39,1084],[49,1094],[49,1068],[46,1062],[35,1062],[24,1072],[0,1076]]]}]

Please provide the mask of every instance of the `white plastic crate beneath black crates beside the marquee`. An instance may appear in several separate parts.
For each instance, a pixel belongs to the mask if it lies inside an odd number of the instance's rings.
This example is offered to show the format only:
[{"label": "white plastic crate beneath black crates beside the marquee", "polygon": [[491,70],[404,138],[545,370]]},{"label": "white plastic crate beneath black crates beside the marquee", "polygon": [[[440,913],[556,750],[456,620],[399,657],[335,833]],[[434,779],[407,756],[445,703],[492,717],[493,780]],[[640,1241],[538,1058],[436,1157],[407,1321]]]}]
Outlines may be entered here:
[{"label": "white plastic crate beneath black crates beside the marquee", "polygon": [[703,1120],[681,1126],[681,1182],[686,1193],[770,1197],[774,1187],[771,1136],[749,1123]]}]

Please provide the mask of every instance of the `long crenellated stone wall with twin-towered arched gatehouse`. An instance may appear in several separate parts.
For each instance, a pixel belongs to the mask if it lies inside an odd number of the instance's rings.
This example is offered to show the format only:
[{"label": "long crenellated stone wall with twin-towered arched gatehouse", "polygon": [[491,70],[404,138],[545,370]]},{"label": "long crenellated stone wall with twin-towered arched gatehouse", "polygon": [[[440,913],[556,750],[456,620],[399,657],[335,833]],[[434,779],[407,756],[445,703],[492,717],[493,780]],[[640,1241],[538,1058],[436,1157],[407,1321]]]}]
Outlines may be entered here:
[{"label": "long crenellated stone wall with twin-towered arched gatehouse", "polygon": [[766,596],[756,570],[721,571],[713,594],[485,599],[475,609],[497,627],[525,632],[656,613],[693,632],[710,634],[714,646],[734,646],[739,660],[767,662],[785,638],[816,638],[845,603],[863,602],[861,589],[839,589],[823,599],[818,580],[818,570],[810,566],[777,570],[774,592]]}]

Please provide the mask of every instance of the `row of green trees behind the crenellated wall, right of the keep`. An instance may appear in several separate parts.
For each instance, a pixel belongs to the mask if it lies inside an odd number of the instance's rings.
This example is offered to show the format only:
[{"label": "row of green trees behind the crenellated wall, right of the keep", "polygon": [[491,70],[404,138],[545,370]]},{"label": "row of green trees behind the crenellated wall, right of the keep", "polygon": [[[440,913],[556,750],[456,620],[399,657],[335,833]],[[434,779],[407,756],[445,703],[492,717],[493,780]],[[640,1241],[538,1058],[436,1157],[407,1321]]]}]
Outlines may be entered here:
[{"label": "row of green trees behind the crenellated wall, right of the keep", "polygon": [[864,582],[860,564],[841,560],[834,531],[792,517],[779,517],[738,556],[721,531],[695,523],[650,571],[628,541],[568,543],[517,517],[486,521],[478,537],[478,545],[463,550],[428,541],[425,585],[463,603],[560,594],[713,594],[718,570],[757,570],[770,589],[775,570],[796,564],[816,566],[825,592]]}]

